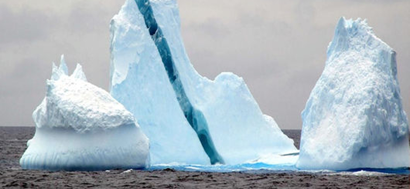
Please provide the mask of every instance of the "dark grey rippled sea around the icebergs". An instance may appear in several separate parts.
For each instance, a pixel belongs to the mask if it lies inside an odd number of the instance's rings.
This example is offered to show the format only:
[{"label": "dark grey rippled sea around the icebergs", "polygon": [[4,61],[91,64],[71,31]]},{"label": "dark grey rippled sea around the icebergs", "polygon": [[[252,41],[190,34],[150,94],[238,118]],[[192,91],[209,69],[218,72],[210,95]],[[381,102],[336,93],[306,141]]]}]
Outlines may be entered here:
[{"label": "dark grey rippled sea around the icebergs", "polygon": [[[18,160],[34,127],[0,127],[0,188],[410,188],[408,174],[378,172],[22,170]],[[283,130],[299,148],[300,130]],[[407,171],[408,173],[408,171]]]}]

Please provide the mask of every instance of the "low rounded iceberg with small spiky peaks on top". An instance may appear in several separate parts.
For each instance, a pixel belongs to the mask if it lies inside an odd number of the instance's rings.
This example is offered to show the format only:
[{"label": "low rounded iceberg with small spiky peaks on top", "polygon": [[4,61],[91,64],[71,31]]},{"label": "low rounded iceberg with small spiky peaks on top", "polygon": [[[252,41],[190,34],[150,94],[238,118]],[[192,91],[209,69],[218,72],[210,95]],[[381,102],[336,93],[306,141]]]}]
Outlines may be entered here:
[{"label": "low rounded iceberg with small spiky peaks on top", "polygon": [[87,82],[79,64],[71,76],[53,64],[43,102],[33,112],[34,137],[23,169],[106,170],[149,166],[148,138],[108,92]]}]

